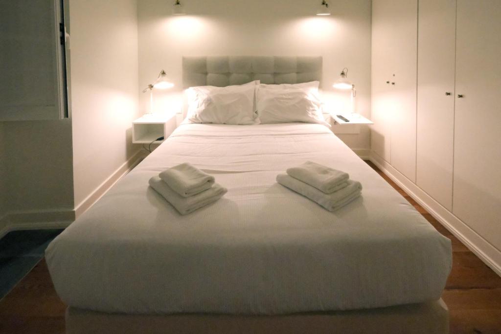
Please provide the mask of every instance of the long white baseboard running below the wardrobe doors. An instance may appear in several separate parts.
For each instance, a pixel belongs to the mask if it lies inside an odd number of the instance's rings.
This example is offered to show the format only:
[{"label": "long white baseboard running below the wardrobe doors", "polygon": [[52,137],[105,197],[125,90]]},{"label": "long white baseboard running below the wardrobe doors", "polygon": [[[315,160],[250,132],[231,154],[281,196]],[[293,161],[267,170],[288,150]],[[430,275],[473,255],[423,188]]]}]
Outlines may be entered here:
[{"label": "long white baseboard running below the wardrobe doors", "polygon": [[426,192],[393,168],[393,166],[376,153],[371,152],[370,161],[379,167],[383,173],[388,175],[388,177],[398,184],[409,196],[447,228],[486,265],[501,276],[501,252],[497,248],[472,230],[452,212],[431,198]]}]

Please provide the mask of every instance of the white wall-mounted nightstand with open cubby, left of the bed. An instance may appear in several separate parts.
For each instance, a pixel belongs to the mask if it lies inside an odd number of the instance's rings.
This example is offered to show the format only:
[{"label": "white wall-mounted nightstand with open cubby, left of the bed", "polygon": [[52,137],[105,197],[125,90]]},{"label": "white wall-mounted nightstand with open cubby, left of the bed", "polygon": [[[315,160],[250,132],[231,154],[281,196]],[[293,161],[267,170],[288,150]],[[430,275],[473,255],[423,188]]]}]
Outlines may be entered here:
[{"label": "white wall-mounted nightstand with open cubby, left of the bed", "polygon": [[132,122],[132,142],[134,144],[149,144],[160,137],[166,139],[176,128],[178,115],[152,114],[138,118]]}]

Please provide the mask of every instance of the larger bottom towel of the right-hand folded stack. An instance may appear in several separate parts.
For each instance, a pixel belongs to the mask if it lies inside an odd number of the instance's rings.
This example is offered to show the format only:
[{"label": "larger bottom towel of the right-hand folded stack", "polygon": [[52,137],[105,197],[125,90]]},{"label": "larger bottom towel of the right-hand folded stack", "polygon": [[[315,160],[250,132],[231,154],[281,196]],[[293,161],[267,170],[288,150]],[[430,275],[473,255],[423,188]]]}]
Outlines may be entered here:
[{"label": "larger bottom towel of the right-hand folded stack", "polygon": [[277,175],[277,182],[317,202],[329,211],[335,211],[345,206],[360,196],[362,192],[362,185],[360,182],[352,180],[348,181],[348,186],[331,194],[325,194],[317,188],[287,174]]}]

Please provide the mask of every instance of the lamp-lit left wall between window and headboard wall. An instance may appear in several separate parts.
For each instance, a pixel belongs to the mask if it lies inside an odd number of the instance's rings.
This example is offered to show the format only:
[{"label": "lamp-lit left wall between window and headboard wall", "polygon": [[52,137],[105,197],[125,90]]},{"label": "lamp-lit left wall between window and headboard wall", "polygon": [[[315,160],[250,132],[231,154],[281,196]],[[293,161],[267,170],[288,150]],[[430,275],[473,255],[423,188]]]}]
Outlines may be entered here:
[{"label": "lamp-lit left wall between window and headboard wall", "polygon": [[70,34],[78,213],[139,150],[131,144],[139,94],[136,0],[70,0]]}]

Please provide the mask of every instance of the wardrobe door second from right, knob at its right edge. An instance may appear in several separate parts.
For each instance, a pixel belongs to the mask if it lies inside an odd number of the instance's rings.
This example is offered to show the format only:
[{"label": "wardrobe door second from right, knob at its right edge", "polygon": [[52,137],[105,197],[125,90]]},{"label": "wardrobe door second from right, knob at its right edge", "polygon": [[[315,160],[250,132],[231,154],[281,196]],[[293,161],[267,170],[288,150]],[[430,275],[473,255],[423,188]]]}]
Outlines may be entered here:
[{"label": "wardrobe door second from right, knob at its right edge", "polygon": [[456,0],[419,0],[416,184],[452,210]]}]

